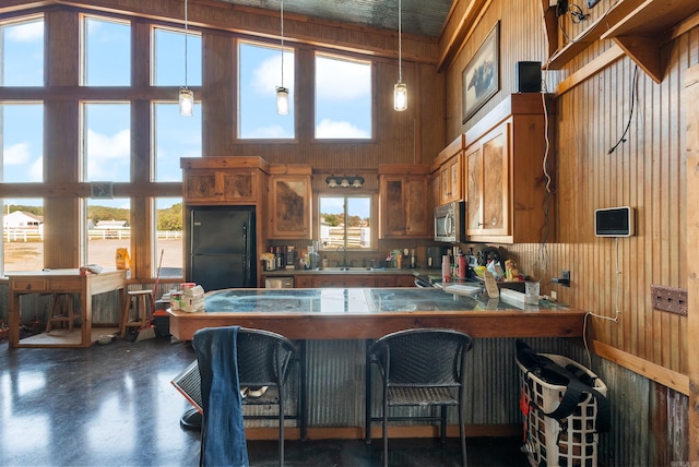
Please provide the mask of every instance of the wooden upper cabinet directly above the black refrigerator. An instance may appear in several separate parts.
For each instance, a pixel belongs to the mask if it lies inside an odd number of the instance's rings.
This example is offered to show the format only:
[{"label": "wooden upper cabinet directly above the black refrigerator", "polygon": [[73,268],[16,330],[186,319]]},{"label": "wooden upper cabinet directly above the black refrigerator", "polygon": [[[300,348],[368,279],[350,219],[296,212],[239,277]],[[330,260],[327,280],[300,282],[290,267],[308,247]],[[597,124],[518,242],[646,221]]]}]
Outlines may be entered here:
[{"label": "wooden upper cabinet directly above the black refrigerator", "polygon": [[182,158],[187,204],[257,204],[266,163],[257,157]]}]

